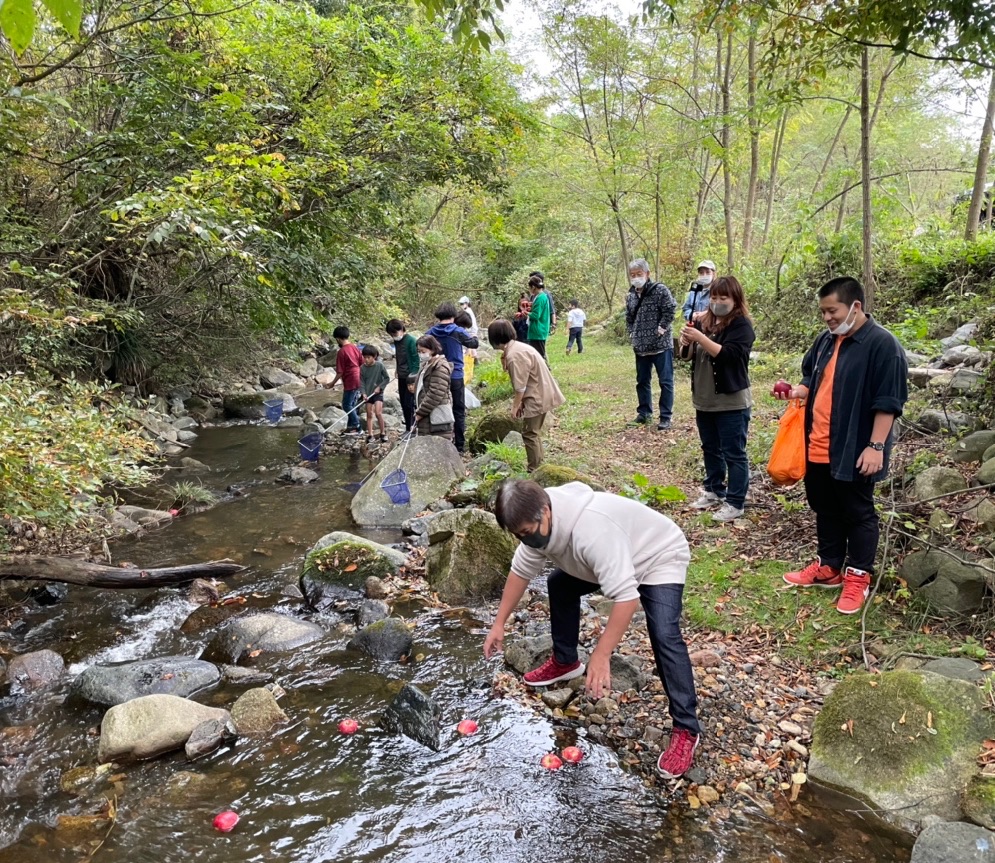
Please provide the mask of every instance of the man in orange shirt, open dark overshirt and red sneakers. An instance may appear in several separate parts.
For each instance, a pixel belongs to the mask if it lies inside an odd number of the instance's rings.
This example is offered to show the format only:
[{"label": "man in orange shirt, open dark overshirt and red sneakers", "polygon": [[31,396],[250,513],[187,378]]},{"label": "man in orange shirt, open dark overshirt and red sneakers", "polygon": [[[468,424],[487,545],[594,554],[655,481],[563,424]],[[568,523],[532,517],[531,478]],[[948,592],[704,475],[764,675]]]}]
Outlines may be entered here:
[{"label": "man in orange shirt, open dark overshirt and red sneakers", "polygon": [[888,473],[892,426],[908,398],[908,362],[891,333],[864,313],[849,277],[819,289],[827,331],[802,360],[802,381],[782,399],[806,399],[805,493],[819,557],[784,576],[796,587],[840,587],[836,608],[860,611],[878,547],[874,485]]}]

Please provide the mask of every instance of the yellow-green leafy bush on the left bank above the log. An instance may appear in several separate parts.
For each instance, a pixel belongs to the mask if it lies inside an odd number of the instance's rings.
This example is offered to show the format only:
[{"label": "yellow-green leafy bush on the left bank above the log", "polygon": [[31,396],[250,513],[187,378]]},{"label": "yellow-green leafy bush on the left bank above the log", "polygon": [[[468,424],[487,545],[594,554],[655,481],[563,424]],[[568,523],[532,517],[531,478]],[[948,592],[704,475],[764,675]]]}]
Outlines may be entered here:
[{"label": "yellow-green leafy bush on the left bank above the log", "polygon": [[96,384],[0,378],[0,512],[55,527],[93,514],[112,486],[150,479],[154,448]]}]

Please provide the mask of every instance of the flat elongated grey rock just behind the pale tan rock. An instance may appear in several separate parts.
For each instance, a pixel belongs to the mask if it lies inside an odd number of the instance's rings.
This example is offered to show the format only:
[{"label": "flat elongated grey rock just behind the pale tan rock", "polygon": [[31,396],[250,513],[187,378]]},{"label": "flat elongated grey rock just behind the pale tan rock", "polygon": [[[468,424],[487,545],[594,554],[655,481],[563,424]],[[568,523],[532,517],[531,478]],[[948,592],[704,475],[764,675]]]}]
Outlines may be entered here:
[{"label": "flat elongated grey rock just behind the pale tan rock", "polygon": [[143,695],[187,698],[220,680],[221,671],[210,662],[190,656],[164,656],[91,666],[73,681],[71,693],[90,704],[113,707]]}]

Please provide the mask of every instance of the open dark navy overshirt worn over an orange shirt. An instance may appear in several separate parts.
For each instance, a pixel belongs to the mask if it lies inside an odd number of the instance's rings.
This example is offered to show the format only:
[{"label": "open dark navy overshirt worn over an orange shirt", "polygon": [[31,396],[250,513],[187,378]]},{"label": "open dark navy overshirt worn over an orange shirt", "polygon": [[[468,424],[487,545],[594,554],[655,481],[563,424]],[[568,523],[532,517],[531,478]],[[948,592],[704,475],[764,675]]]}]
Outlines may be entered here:
[{"label": "open dark navy overshirt worn over an orange shirt", "polygon": [[[812,432],[815,394],[822,383],[826,363],[833,356],[829,330],[823,332],[802,360],[802,386],[808,387],[805,404],[805,447]],[[863,479],[857,459],[871,442],[876,413],[902,415],[909,397],[909,364],[905,351],[891,333],[868,317],[852,336],[843,339],[833,375],[833,409],[829,418],[829,471],[833,479],[852,482]],[[894,429],[892,429],[894,432]],[[880,482],[888,474],[893,434],[884,447],[884,464],[870,477]]]}]

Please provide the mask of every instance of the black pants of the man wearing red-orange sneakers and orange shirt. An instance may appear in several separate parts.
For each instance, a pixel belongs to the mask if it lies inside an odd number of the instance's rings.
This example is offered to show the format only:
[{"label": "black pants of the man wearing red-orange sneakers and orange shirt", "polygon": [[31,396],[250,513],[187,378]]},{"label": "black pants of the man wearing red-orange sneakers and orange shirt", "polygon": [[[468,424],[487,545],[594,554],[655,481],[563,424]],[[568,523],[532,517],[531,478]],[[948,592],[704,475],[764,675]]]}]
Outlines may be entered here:
[{"label": "black pants of the man wearing red-orange sneakers and orange shirt", "polygon": [[822,563],[834,569],[846,565],[874,572],[879,534],[874,483],[863,478],[833,479],[828,464],[807,462],[805,495],[815,513]]}]

